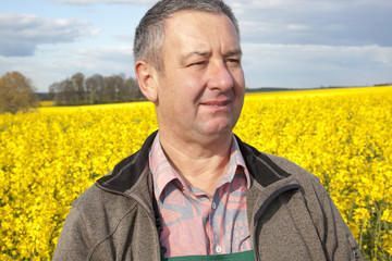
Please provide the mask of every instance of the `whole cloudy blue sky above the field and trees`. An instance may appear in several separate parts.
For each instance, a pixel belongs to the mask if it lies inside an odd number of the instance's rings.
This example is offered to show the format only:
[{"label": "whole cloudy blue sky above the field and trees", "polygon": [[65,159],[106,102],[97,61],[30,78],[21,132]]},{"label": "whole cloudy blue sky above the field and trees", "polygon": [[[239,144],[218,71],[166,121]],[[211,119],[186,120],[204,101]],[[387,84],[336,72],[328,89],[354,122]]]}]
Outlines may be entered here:
[{"label": "whole cloudy blue sky above the field and trees", "polygon": [[[82,72],[134,76],[135,27],[150,0],[12,0],[0,8],[0,75],[39,91]],[[390,0],[226,0],[240,21],[246,86],[392,83]]]}]

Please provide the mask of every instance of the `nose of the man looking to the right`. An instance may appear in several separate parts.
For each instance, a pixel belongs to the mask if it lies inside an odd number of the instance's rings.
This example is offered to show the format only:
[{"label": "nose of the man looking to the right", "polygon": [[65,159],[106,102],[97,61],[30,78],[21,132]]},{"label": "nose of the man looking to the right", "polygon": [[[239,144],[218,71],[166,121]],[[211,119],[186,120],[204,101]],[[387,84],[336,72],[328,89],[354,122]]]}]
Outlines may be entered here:
[{"label": "nose of the man looking to the right", "polygon": [[209,70],[208,88],[224,92],[234,85],[233,75],[223,61],[213,63]]}]

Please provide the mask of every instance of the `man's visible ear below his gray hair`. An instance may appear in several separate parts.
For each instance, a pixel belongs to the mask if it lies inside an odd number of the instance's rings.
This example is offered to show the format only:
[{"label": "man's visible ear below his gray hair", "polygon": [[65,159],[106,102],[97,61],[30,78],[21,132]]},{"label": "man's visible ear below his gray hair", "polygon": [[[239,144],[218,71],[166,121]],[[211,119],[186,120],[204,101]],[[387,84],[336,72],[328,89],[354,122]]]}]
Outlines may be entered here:
[{"label": "man's visible ear below his gray hair", "polygon": [[142,94],[156,103],[158,101],[157,71],[146,61],[139,60],[135,63],[135,74]]}]

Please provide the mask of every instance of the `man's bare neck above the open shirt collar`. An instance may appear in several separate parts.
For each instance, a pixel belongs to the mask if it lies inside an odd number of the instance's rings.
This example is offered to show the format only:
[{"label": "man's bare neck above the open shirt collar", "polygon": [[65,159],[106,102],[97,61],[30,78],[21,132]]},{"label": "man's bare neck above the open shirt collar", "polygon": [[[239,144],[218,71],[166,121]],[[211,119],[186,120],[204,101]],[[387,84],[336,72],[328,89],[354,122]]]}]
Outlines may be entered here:
[{"label": "man's bare neck above the open shirt collar", "polygon": [[187,185],[213,195],[230,161],[232,133],[205,142],[174,138],[159,130],[168,160]]}]

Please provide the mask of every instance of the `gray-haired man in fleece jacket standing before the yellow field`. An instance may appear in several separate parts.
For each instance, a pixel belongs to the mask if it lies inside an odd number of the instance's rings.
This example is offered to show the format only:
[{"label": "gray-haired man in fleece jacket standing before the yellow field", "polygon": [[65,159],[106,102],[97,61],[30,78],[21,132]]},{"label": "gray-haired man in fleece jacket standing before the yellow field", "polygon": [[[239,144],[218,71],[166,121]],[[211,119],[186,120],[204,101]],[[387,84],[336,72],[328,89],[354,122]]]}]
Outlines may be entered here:
[{"label": "gray-haired man in fleece jacket standing before the yellow field", "polygon": [[315,176],[233,135],[245,80],[229,7],[159,1],[134,54],[159,132],[74,202],[54,260],[363,259]]}]

